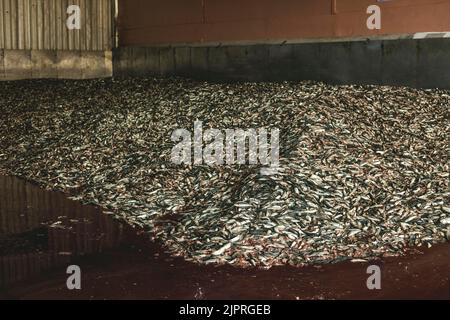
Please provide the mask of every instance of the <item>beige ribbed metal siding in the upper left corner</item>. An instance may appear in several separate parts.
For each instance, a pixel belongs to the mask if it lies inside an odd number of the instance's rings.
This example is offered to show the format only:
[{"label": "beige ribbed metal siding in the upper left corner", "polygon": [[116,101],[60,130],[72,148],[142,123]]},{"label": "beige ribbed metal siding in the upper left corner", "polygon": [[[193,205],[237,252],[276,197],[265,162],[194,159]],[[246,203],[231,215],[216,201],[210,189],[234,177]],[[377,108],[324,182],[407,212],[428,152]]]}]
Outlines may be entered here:
[{"label": "beige ribbed metal siding in the upper left corner", "polygon": [[[81,30],[66,27],[70,5]],[[110,50],[114,0],[0,0],[0,49]]]}]

